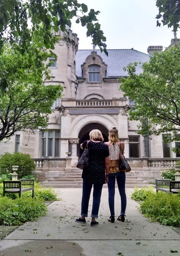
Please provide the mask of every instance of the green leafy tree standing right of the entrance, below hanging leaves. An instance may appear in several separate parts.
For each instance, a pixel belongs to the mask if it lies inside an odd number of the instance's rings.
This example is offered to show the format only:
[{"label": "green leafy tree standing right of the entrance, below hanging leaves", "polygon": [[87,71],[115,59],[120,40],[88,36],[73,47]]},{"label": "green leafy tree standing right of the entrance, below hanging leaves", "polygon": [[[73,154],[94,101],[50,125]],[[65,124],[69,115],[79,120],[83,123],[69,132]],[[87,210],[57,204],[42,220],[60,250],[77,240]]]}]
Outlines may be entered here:
[{"label": "green leafy tree standing right of the entrance, below hanging leaves", "polygon": [[[129,119],[137,120],[138,134],[171,134],[174,141],[180,132],[180,45],[150,56],[149,62],[130,63],[124,70],[120,89],[124,96],[135,100]],[[140,66],[143,73],[136,74]]]}]

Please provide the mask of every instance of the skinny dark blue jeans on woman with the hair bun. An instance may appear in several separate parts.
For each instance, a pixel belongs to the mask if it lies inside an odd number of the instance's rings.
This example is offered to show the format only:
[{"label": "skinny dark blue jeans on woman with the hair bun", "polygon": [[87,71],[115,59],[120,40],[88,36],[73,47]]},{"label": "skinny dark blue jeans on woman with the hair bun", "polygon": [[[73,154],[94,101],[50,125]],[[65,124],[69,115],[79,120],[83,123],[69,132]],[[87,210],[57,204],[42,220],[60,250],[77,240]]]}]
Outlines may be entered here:
[{"label": "skinny dark blue jeans on woman with the hair bun", "polygon": [[125,181],[126,181],[125,172],[109,173],[109,180],[107,182],[107,186],[108,186],[109,209],[110,209],[111,216],[115,216],[115,212],[114,212],[115,181],[117,181],[118,190],[121,197],[121,212],[120,212],[121,215],[125,214],[126,204],[127,204],[126,192],[125,192]]}]

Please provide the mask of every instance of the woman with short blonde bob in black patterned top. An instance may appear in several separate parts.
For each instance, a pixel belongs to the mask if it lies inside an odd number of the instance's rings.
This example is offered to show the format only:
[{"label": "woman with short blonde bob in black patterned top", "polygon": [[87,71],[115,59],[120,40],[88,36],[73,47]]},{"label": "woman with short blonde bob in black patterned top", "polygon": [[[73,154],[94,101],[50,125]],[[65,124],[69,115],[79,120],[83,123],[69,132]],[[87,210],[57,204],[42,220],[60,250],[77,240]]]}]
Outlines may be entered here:
[{"label": "woman with short blonde bob in black patterned top", "polygon": [[[89,149],[89,165],[83,169],[83,192],[81,201],[81,216],[76,219],[76,222],[86,223],[85,217],[88,217],[88,206],[91,190],[93,186],[93,203],[91,212],[91,226],[97,226],[99,222],[95,220],[98,218],[98,212],[101,201],[102,186],[108,182],[109,173],[109,149],[103,143],[104,138],[101,131],[95,129],[89,133],[90,140],[84,141],[80,147],[81,149]],[[88,145],[87,145],[88,142]]]}]

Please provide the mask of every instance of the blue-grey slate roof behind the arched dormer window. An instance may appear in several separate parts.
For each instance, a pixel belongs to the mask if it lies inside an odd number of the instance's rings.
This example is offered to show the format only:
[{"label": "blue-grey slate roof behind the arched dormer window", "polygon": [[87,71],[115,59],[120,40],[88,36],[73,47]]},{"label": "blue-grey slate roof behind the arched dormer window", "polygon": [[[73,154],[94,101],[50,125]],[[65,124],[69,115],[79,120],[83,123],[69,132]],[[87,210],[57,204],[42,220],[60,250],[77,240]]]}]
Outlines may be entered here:
[{"label": "blue-grey slate roof behind the arched dormer window", "polygon": [[[96,50],[97,54],[101,56],[105,64],[107,64],[106,77],[120,77],[127,76],[127,71],[123,68],[126,67],[130,62],[145,62],[149,60],[149,56],[146,53],[136,51],[134,49],[117,49],[107,50],[109,57],[104,52]],[[82,77],[81,65],[85,62],[88,55],[92,50],[78,50],[76,53],[76,75]],[[137,67],[137,74],[141,73],[142,69]]]}]

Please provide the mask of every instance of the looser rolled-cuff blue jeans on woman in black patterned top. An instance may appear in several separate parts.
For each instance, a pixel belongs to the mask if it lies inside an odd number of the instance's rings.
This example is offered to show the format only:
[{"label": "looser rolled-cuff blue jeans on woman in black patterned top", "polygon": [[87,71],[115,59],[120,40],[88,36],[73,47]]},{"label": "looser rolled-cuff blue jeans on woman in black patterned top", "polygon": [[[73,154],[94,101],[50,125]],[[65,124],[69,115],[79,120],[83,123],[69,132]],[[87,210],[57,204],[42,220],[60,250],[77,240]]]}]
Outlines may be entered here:
[{"label": "looser rolled-cuff blue jeans on woman in black patterned top", "polygon": [[101,201],[101,192],[103,184],[93,184],[83,180],[83,194],[81,201],[81,216],[88,217],[89,198],[93,185],[93,203],[91,218],[98,218],[99,206]]}]

